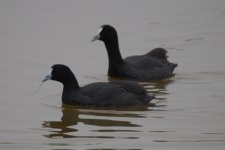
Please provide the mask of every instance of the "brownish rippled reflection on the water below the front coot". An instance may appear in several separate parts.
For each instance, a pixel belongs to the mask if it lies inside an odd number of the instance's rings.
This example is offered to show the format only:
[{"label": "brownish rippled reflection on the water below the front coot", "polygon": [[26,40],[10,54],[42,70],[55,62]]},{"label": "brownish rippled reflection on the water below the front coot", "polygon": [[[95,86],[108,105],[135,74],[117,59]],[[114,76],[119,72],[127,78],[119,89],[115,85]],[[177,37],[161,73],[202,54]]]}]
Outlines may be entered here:
[{"label": "brownish rippled reflection on the water below the front coot", "polygon": [[[75,132],[78,131],[76,125],[83,123],[85,125],[93,125],[99,127],[139,127],[138,124],[133,124],[129,121],[110,120],[110,119],[91,119],[81,118],[80,115],[86,116],[104,116],[110,118],[116,117],[132,117],[142,118],[144,116],[135,113],[107,113],[107,110],[94,110],[94,109],[77,109],[73,106],[62,105],[61,121],[43,121],[42,126],[49,128],[49,133],[44,135],[47,138],[75,138]],[[116,112],[116,111],[115,111]]]}]

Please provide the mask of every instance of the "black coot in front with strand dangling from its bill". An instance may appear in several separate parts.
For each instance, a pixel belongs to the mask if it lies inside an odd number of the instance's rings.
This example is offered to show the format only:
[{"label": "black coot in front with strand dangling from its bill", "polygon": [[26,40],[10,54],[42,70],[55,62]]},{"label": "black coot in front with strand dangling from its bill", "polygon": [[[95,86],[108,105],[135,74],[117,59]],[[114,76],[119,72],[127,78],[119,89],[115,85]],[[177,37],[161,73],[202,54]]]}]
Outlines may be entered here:
[{"label": "black coot in front with strand dangling from its bill", "polygon": [[62,101],[70,105],[130,106],[148,104],[154,96],[134,81],[95,82],[80,87],[70,68],[55,64],[42,82],[54,80],[63,84]]}]

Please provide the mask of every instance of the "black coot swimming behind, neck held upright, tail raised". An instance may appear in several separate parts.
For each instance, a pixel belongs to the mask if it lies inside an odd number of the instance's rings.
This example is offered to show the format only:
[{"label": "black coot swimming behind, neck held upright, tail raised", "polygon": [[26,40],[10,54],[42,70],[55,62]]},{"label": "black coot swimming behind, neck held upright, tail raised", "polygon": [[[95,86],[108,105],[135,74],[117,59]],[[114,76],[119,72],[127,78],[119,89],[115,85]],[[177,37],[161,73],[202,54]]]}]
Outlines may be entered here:
[{"label": "black coot swimming behind, neck held upright, tail raised", "polygon": [[108,53],[108,76],[141,81],[160,80],[172,75],[177,64],[167,60],[167,50],[155,48],[144,55],[122,58],[116,29],[102,25],[92,42],[104,42]]}]

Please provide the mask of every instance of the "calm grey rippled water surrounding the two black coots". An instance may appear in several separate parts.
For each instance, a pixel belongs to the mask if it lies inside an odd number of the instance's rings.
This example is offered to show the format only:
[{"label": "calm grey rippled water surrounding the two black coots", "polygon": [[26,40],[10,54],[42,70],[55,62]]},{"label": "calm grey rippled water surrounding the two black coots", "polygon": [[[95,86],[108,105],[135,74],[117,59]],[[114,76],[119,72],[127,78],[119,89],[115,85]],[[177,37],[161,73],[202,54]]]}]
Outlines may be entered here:
[{"label": "calm grey rippled water surrounding the two black coots", "polygon": [[[62,106],[62,85],[45,83],[63,63],[80,85],[107,81],[102,24],[119,32],[123,57],[155,47],[176,75],[141,83],[155,106],[101,110]],[[0,149],[149,150],[225,147],[224,0],[1,0]]]}]

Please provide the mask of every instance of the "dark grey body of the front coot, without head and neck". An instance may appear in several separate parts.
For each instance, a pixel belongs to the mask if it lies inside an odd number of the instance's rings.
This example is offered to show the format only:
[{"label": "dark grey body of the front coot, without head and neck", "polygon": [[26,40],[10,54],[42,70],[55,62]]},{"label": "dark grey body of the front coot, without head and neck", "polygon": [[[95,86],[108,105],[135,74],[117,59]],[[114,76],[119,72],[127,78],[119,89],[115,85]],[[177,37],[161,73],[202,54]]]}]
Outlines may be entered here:
[{"label": "dark grey body of the front coot, without head and neck", "polygon": [[[132,88],[133,85],[133,88]],[[147,104],[151,100],[144,88],[136,83],[96,82],[78,90],[63,91],[62,99],[67,104],[96,106],[127,106]]]}]

